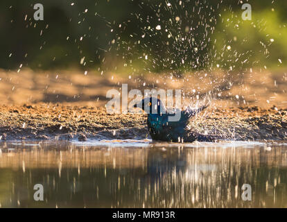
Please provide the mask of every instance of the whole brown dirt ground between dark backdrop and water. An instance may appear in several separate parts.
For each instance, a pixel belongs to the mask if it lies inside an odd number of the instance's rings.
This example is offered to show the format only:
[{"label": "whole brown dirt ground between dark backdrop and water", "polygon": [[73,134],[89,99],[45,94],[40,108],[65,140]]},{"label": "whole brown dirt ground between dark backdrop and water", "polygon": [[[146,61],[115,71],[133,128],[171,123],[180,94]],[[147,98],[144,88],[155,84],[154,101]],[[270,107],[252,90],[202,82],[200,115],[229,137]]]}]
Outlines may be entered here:
[{"label": "whole brown dirt ground between dark backdrop and water", "polygon": [[[199,74],[198,74],[199,75]],[[223,80],[224,79],[224,80]],[[287,139],[287,75],[250,73],[166,78],[80,71],[0,71],[0,138],[144,139],[146,114],[107,114],[106,93],[132,88],[182,89],[185,104],[209,97],[211,105],[191,129],[226,139]]]}]

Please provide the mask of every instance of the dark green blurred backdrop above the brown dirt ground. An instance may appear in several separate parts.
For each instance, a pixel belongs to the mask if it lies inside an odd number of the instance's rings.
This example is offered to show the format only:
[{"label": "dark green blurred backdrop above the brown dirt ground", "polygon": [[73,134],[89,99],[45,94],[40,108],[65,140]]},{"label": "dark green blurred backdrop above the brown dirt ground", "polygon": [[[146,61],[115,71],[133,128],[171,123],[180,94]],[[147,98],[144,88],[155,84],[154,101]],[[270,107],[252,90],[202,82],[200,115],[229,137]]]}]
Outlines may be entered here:
[{"label": "dark green blurred backdrop above the brown dirt ground", "polygon": [[[246,2],[252,6],[251,21],[241,19]],[[43,4],[44,21],[33,19],[35,3]],[[287,59],[286,12],[287,2],[276,0],[2,0],[0,68],[278,67]]]}]

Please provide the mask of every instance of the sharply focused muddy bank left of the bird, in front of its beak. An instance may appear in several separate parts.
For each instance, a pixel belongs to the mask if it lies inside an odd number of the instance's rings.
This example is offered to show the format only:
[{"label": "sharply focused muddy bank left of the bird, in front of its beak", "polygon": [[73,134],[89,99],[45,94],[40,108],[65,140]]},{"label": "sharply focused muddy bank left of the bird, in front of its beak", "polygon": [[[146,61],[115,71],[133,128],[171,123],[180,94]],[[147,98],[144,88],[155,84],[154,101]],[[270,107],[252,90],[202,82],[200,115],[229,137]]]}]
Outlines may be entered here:
[{"label": "sharply focused muddy bank left of the bird, in front of its beak", "polygon": [[1,139],[143,138],[143,114],[77,105],[1,105]]}]

